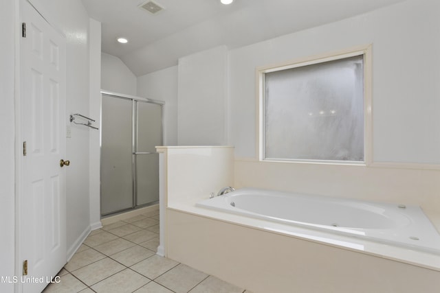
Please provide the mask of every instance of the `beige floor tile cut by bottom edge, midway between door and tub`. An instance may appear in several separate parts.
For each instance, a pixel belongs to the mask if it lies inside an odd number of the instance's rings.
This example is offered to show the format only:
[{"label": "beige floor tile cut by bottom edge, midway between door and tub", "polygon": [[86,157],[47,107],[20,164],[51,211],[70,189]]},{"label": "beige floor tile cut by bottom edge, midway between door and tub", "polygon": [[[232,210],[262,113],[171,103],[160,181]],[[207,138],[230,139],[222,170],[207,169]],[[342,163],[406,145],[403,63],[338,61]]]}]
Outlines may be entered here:
[{"label": "beige floor tile cut by bottom edge, midway between door and tub", "polygon": [[131,293],[151,281],[129,268],[96,283],[91,288],[98,293]]}]

